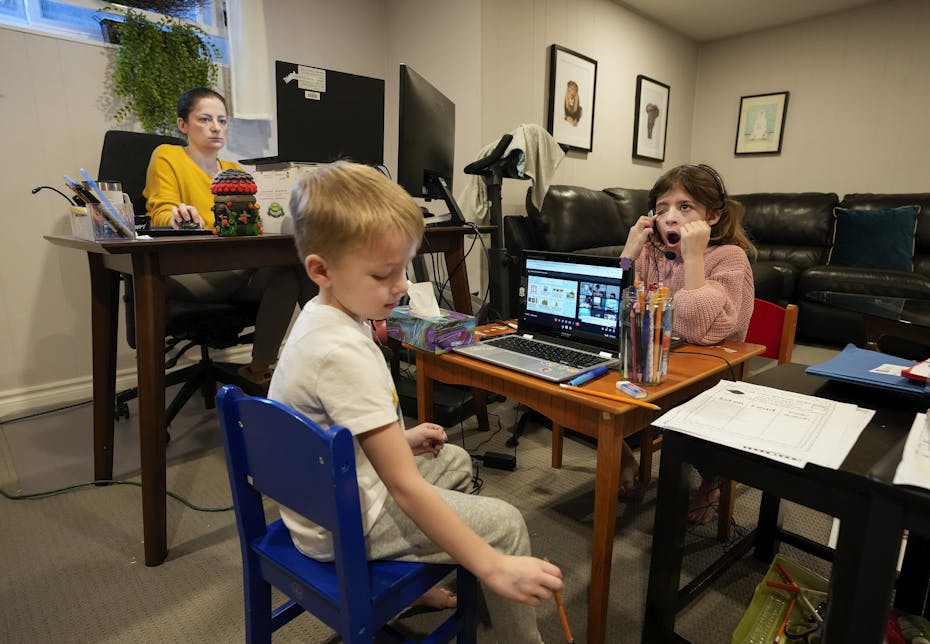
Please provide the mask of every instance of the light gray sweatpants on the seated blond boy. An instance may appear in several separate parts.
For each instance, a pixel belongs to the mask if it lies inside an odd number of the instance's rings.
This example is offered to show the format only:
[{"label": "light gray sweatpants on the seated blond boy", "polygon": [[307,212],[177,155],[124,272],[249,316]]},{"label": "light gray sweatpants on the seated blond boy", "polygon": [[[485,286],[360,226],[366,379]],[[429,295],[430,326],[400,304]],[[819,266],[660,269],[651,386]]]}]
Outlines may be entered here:
[{"label": "light gray sweatpants on the seated blond boy", "polygon": [[[471,457],[461,447],[446,444],[439,455],[417,457],[423,478],[456,514],[492,547],[508,555],[530,554],[530,537],[523,515],[500,499],[468,494],[471,487]],[[369,559],[399,559],[426,563],[454,563],[429,540],[388,495],[384,509],[367,537]],[[498,597],[485,590],[485,603],[501,642],[539,644],[536,610],[527,604]]]}]

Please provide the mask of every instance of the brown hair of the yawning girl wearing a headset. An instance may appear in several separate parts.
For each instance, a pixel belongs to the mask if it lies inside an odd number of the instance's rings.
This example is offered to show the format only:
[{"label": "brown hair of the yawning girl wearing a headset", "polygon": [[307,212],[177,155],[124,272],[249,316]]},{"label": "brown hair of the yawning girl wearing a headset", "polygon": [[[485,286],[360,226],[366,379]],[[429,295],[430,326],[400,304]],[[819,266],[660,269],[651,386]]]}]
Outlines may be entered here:
[{"label": "brown hair of the yawning girl wearing a headset", "polygon": [[743,205],[727,194],[723,179],[709,165],[680,165],[672,168],[656,181],[649,191],[649,207],[655,210],[659,197],[673,188],[681,188],[695,201],[707,208],[707,215],[720,215],[710,229],[710,245],[735,244],[751,258],[758,250],[743,230]]}]

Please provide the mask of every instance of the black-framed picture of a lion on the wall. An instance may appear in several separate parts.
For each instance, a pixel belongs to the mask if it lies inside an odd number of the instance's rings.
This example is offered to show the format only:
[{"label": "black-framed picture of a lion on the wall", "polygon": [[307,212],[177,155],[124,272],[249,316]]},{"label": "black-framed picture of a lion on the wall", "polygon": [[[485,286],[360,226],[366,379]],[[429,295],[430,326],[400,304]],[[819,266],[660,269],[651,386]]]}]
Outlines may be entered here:
[{"label": "black-framed picture of a lion on the wall", "polygon": [[549,46],[547,129],[563,148],[592,150],[596,82],[596,60],[565,47]]}]

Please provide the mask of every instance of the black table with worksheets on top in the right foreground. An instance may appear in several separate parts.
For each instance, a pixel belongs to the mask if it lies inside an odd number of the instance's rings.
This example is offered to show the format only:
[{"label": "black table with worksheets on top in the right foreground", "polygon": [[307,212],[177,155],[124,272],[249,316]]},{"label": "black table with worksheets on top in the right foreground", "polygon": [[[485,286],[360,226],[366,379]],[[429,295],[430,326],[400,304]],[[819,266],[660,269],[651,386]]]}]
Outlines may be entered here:
[{"label": "black table with worksheets on top in the right foreground", "polygon": [[[643,642],[683,641],[674,632],[676,613],[750,550],[756,558],[770,562],[782,542],[833,562],[824,642],[881,642],[903,520],[899,506],[876,494],[869,474],[889,451],[898,448],[914,414],[925,411],[927,401],[809,376],[805,368],[781,365],[749,382],[876,410],[838,470],[811,464],[800,469],[678,432],[665,432]],[[762,502],[756,529],[679,588],[689,464],[759,488]],[[839,518],[836,550],[784,530],[781,499]]]}]

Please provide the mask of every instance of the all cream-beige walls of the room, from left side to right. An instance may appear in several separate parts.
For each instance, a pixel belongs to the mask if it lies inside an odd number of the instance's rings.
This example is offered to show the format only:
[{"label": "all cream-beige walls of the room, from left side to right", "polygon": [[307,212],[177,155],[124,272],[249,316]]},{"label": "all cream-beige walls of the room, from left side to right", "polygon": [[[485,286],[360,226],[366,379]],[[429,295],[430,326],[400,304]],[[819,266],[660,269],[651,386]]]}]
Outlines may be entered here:
[{"label": "all cream-beige walls of the room, from left side to right", "polygon": [[[461,168],[519,124],[545,124],[548,47],[556,43],[598,61],[594,150],[572,153],[559,183],[648,187],[694,160],[716,164],[734,192],[928,189],[923,0],[702,47],[609,0],[267,0],[266,10],[272,60],[385,79],[392,171],[399,62],[455,101]],[[89,396],[86,259],[42,238],[69,232],[65,204],[30,188],[61,186],[63,173],[97,167],[103,134],[115,126],[105,83],[111,52],[0,27],[0,419]],[[664,163],[632,159],[637,74],[671,86]],[[782,155],[734,157],[739,97],[784,89],[791,100]],[[463,180],[458,172],[456,186]],[[505,213],[523,211],[527,186],[505,181]],[[134,355],[120,346],[119,366],[131,369]]]}]

